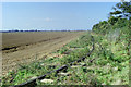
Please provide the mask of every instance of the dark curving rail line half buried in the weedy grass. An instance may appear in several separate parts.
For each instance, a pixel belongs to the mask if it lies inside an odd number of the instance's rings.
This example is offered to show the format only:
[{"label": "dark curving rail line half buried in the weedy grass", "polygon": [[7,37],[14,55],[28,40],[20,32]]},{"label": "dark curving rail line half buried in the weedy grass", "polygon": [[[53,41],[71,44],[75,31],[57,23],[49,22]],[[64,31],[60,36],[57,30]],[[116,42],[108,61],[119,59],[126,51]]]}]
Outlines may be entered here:
[{"label": "dark curving rail line half buried in the weedy grass", "polygon": [[[84,61],[85,58],[86,58],[86,57],[90,57],[90,55],[92,54],[93,50],[95,49],[95,47],[94,47],[94,37],[91,36],[91,38],[92,38],[93,46],[92,46],[92,50],[91,50],[86,55],[84,55],[84,57],[80,58],[79,60],[75,60],[75,61],[73,61],[73,62],[71,62],[71,63],[68,63],[68,64],[66,64],[66,65],[63,65],[63,66],[61,66],[61,67],[59,67],[59,69],[57,69],[57,70],[53,70],[53,71],[51,71],[51,72],[49,72],[49,73],[47,73],[47,74],[45,74],[45,75],[38,76],[38,77],[34,78],[34,79],[31,79],[31,80],[25,82],[25,83],[20,84],[20,85],[15,85],[15,86],[13,86],[13,87],[36,86],[36,85],[37,85],[37,84],[36,84],[36,80],[37,80],[37,79],[39,79],[39,80],[40,80],[40,79],[44,79],[47,75],[50,75],[50,74],[53,73],[53,72],[59,73],[60,71],[67,70],[69,66],[73,65],[75,62],[79,63],[79,62],[81,62],[81,61]],[[94,60],[94,59],[90,60],[88,62],[92,62],[93,60]]]}]

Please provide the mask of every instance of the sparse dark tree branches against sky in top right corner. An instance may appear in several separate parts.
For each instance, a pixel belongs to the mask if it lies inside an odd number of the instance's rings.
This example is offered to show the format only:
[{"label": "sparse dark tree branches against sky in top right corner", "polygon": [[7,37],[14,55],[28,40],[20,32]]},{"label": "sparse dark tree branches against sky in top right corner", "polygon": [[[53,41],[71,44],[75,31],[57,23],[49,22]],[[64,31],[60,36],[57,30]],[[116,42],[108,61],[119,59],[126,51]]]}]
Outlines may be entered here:
[{"label": "sparse dark tree branches against sky in top right corner", "polygon": [[112,8],[114,12],[110,12],[110,16],[131,18],[131,0],[126,2],[122,0]]}]

